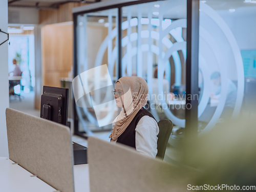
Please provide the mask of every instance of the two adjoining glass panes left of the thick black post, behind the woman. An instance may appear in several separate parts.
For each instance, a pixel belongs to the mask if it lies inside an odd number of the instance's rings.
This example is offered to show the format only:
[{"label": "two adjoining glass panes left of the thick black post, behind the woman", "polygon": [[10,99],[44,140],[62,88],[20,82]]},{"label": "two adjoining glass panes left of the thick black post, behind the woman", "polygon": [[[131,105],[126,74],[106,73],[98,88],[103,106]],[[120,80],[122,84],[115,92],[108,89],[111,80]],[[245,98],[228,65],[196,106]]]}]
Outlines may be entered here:
[{"label": "two adjoining glass panes left of the thick black post, behind the woman", "polygon": [[[113,87],[122,76],[140,76],[149,89],[145,108],[185,127],[186,9],[185,0],[139,1],[75,13],[75,76],[104,64]],[[103,101],[105,91],[96,97]],[[98,116],[93,107],[75,108],[75,134],[86,137],[111,131],[97,117],[115,111],[111,122],[120,112],[115,104]]]}]

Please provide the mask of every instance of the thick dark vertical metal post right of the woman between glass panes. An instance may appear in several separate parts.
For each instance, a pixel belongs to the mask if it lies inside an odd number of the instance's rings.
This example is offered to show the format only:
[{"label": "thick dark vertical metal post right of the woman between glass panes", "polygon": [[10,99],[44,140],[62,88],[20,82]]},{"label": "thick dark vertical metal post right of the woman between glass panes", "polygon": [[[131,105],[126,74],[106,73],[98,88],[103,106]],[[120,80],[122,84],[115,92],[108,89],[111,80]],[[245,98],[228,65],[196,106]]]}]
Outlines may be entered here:
[{"label": "thick dark vertical metal post right of the woman between glass panes", "polygon": [[[186,110],[185,110],[185,147],[184,163],[193,167],[190,162],[194,150],[190,148],[198,136],[198,100],[188,99],[188,95],[199,94],[199,0],[187,0],[187,59],[186,59]],[[198,98],[198,97],[197,97]],[[191,106],[191,109],[188,109]]]}]

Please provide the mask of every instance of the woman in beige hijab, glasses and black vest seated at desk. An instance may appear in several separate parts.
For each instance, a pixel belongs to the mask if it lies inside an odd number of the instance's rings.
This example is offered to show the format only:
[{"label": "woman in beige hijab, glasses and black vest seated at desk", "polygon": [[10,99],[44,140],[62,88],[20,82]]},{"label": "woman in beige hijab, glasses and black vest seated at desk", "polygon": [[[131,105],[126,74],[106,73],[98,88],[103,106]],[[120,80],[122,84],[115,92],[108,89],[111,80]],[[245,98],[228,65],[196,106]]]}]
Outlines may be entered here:
[{"label": "woman in beige hijab, glasses and black vest seated at desk", "polygon": [[143,108],[147,102],[146,81],[141,77],[121,77],[112,93],[122,110],[112,124],[111,141],[129,145],[155,158],[159,127],[153,115]]}]

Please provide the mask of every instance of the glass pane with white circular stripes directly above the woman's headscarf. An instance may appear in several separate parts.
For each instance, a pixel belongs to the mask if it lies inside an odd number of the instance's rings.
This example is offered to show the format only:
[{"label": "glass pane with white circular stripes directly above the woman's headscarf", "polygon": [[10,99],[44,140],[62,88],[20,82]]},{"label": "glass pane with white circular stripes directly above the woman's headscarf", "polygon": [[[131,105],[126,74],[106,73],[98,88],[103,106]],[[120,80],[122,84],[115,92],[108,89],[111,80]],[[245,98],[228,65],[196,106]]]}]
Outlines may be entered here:
[{"label": "glass pane with white circular stripes directly above the woman's headscarf", "polygon": [[[158,1],[122,8],[122,76],[148,84],[148,110],[156,120],[184,127],[186,2]],[[185,90],[183,90],[185,91]],[[177,92],[175,100],[170,93]]]}]

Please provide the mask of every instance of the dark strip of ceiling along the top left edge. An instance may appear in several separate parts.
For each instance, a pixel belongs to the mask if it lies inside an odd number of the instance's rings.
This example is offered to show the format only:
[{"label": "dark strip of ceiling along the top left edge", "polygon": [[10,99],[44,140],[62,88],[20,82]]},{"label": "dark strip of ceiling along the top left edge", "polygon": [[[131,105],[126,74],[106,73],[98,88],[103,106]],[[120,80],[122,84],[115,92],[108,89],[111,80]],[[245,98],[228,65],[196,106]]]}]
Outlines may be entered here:
[{"label": "dark strip of ceiling along the top left edge", "polygon": [[95,3],[100,0],[8,0],[9,7],[58,8],[65,3]]}]

